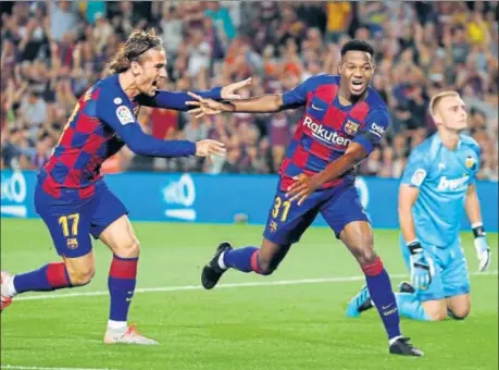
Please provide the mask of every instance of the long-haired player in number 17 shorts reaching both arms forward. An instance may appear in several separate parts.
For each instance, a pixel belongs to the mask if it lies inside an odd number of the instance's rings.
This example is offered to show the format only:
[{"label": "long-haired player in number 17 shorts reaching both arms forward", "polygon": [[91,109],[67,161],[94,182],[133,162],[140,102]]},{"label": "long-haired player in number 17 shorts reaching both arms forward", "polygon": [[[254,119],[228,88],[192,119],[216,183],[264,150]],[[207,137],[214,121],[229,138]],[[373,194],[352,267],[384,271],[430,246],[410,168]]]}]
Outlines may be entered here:
[{"label": "long-haired player in number 17 shorts reaching both arms forward", "polygon": [[[142,156],[185,157],[223,155],[215,140],[160,140],[146,135],[137,122],[140,106],[188,110],[186,92],[157,89],[166,78],[166,57],[153,30],[136,30],[111,61],[111,75],[99,81],[82,98],[70,116],[48,163],[40,170],[35,207],[52,236],[62,262],[11,275],[1,273],[1,310],[25,292],[54,291],[86,285],[95,273],[91,238],[113,252],[108,286],[110,316],[104,343],[157,344],[128,326],[140,251],[124,205],[111,193],[99,173],[102,162],[123,145]],[[244,81],[200,92],[213,99],[239,98]]]}]

